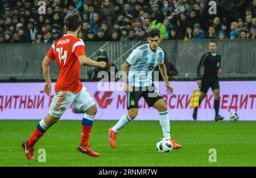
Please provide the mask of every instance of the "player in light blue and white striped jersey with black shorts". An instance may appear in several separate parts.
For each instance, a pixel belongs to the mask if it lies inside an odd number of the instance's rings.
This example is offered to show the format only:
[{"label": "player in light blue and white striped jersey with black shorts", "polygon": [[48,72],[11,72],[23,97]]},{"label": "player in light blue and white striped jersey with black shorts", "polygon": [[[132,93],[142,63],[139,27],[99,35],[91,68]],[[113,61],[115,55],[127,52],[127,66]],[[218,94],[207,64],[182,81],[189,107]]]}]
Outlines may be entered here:
[{"label": "player in light blue and white striped jersey with black shorts", "polygon": [[[116,146],[117,132],[137,116],[138,102],[141,97],[144,98],[148,106],[154,106],[159,111],[164,138],[170,139],[174,148],[181,148],[175,140],[171,139],[167,105],[152,82],[152,72],[158,66],[166,83],[167,94],[172,94],[173,88],[168,82],[166,66],[164,65],[164,52],[158,47],[161,42],[159,30],[152,29],[148,32],[147,42],[148,44],[134,49],[125,63],[122,64],[123,71],[128,75],[124,88],[127,93],[128,114],[123,115],[117,124],[108,130],[109,144],[113,148]],[[128,70],[129,67],[130,70]]]}]

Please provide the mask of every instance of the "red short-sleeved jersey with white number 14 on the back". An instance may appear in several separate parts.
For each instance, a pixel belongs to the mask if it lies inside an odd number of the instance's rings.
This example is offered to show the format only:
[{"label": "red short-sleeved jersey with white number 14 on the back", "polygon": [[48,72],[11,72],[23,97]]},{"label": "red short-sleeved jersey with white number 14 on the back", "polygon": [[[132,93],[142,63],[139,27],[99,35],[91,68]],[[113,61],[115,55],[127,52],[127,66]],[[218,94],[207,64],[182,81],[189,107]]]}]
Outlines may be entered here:
[{"label": "red short-sleeved jersey with white number 14 on the back", "polygon": [[55,91],[67,90],[79,93],[82,89],[80,82],[80,63],[78,57],[85,55],[85,47],[82,39],[74,35],[63,35],[52,44],[47,57],[55,59],[60,68]]}]

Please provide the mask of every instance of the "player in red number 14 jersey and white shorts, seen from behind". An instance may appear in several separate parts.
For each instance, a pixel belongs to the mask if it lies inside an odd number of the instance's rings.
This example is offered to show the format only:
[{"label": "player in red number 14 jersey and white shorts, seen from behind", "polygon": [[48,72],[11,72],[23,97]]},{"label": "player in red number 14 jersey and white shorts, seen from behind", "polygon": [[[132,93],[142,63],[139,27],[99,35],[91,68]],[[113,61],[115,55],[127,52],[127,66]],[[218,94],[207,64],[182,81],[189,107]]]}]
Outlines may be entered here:
[{"label": "player in red number 14 jersey and white shorts, seen from behind", "polygon": [[44,93],[49,96],[51,93],[51,77],[49,74],[49,64],[55,60],[60,68],[60,74],[55,85],[55,96],[52,99],[47,117],[42,119],[36,126],[34,133],[27,141],[22,142],[22,148],[28,159],[34,159],[33,151],[35,143],[54,123],[59,121],[61,115],[73,103],[77,109],[85,111],[82,118],[81,143],[77,151],[90,155],[100,156],[89,147],[89,136],[92,130],[94,116],[97,107],[92,96],[80,82],[80,65],[105,68],[106,63],[90,60],[85,55],[84,42],[77,38],[81,30],[81,19],[79,15],[70,15],[65,19],[67,34],[52,44],[46,57],[44,57],[42,67],[46,84]]}]

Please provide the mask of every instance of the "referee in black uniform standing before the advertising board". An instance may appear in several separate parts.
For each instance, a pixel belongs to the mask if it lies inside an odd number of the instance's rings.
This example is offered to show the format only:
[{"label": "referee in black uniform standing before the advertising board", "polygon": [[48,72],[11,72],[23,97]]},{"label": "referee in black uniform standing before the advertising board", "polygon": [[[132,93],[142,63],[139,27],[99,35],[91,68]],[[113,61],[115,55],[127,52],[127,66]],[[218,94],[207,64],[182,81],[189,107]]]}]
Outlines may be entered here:
[{"label": "referee in black uniform standing before the advertising board", "polygon": [[[221,55],[216,53],[217,43],[214,40],[211,40],[209,43],[209,52],[205,53],[198,64],[197,67],[197,85],[201,86],[200,88],[200,97],[199,97],[199,106],[201,101],[204,100],[208,89],[211,88],[214,94],[214,109],[215,109],[215,121],[222,121],[224,117],[218,114],[220,109],[220,84],[218,80],[218,73],[222,72],[221,69]],[[204,66],[204,74],[201,78],[201,69]],[[197,110],[196,107],[193,111],[193,119],[197,119]]]}]

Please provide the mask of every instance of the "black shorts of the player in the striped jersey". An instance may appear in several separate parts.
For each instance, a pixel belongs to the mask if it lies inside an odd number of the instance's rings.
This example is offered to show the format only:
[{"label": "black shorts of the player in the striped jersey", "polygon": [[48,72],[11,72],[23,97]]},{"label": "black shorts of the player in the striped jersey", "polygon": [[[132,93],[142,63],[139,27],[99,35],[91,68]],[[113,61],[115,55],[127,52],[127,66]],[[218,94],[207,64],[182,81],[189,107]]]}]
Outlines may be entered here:
[{"label": "black shorts of the player in the striped jersey", "polygon": [[144,87],[134,87],[133,92],[127,93],[127,110],[139,108],[139,99],[141,97],[147,102],[148,106],[154,106],[155,102],[163,99],[162,94],[154,84]]}]

